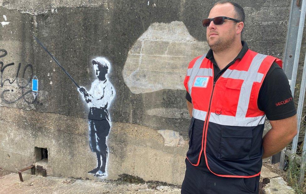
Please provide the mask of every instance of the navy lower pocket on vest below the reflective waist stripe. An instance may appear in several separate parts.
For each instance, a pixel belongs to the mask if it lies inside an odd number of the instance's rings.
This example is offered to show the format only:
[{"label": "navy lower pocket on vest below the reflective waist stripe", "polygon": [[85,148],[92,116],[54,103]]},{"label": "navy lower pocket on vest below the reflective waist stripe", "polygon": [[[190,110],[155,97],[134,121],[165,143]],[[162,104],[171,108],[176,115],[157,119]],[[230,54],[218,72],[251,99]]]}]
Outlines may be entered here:
[{"label": "navy lower pocket on vest below the reflective waist stripe", "polygon": [[251,127],[221,126],[220,160],[249,160]]}]

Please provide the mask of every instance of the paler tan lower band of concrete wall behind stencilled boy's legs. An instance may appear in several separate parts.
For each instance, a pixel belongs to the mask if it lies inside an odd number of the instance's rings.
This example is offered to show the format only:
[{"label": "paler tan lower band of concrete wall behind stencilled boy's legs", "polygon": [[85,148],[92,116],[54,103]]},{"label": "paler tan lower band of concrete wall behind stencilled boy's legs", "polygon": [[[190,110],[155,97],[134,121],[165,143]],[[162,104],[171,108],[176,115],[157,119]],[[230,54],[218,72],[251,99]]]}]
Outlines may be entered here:
[{"label": "paler tan lower band of concrete wall behind stencilled boy's legs", "polygon": [[[0,107],[0,124],[3,169],[18,171],[35,163],[34,147],[41,147],[48,148],[45,168],[49,176],[101,180],[87,173],[97,165],[88,145],[87,119]],[[113,122],[108,137],[108,179],[129,174],[180,185],[188,143],[180,138],[177,144],[169,146],[167,139],[149,127]]]}]

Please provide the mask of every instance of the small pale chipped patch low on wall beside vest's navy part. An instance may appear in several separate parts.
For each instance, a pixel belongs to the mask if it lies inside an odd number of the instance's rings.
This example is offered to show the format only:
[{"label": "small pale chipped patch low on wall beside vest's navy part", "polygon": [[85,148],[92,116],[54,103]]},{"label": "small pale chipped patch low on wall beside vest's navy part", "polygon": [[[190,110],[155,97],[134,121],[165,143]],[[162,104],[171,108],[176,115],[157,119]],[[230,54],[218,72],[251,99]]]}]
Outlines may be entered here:
[{"label": "small pale chipped patch low on wall beside vest's navy part", "polygon": [[182,135],[173,130],[157,130],[164,138],[164,144],[167,146],[182,146],[185,144],[185,140]]}]

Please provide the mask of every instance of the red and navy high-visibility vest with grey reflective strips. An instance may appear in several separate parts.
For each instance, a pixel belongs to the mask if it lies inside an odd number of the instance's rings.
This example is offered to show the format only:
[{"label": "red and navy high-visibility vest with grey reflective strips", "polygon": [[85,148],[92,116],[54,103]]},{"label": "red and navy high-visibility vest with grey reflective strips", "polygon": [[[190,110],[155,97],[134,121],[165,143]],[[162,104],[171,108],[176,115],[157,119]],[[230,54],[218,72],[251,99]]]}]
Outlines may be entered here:
[{"label": "red and navy high-visibility vest with grey reflective strips", "polygon": [[184,80],[193,104],[187,159],[198,166],[204,154],[217,176],[258,176],[266,119],[258,94],[272,63],[282,67],[282,61],[249,49],[214,82],[213,63],[205,56],[190,62]]}]

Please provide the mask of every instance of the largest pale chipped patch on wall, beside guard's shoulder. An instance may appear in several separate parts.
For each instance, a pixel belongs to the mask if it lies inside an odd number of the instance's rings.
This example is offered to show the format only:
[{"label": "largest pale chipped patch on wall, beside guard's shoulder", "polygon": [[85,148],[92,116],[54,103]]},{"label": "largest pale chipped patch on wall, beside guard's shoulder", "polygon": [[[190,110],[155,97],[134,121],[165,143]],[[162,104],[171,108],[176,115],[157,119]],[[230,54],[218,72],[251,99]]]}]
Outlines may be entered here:
[{"label": "largest pale chipped patch on wall, beside guard's shoulder", "polygon": [[189,62],[207,42],[193,38],[181,21],[152,23],[129,50],[123,78],[135,94],[161,89],[184,89]]}]

